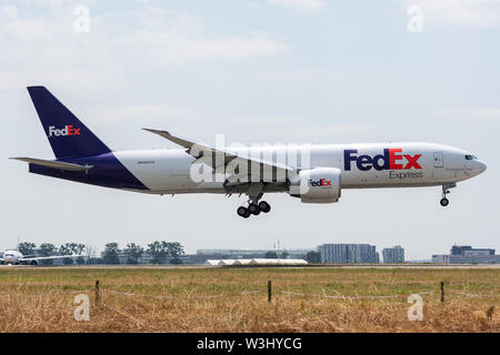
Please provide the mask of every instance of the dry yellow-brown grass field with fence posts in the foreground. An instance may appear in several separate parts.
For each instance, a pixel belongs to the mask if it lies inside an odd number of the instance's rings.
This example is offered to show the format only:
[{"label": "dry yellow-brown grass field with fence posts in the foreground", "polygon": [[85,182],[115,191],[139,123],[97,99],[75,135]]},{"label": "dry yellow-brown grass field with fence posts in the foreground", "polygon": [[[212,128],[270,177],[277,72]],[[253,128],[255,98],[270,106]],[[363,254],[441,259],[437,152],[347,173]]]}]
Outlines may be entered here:
[{"label": "dry yellow-brown grass field with fence posts in the foreground", "polygon": [[[89,322],[73,317],[80,291]],[[0,268],[0,332],[499,332],[499,301],[500,268]]]}]

